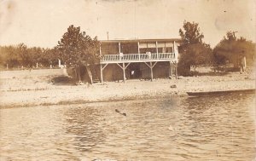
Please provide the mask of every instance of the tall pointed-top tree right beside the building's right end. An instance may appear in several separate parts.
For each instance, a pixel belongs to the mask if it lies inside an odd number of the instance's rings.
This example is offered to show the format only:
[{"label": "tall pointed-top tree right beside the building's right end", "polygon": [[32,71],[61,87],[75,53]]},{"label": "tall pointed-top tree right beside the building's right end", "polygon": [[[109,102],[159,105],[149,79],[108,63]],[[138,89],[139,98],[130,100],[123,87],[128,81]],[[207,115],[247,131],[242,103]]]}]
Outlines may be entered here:
[{"label": "tall pointed-top tree right beside the building's right end", "polygon": [[209,44],[202,42],[204,35],[198,23],[184,21],[179,35],[182,39],[177,68],[179,74],[189,75],[190,66],[209,65],[212,62],[212,49]]}]

